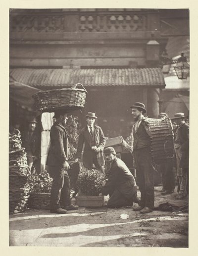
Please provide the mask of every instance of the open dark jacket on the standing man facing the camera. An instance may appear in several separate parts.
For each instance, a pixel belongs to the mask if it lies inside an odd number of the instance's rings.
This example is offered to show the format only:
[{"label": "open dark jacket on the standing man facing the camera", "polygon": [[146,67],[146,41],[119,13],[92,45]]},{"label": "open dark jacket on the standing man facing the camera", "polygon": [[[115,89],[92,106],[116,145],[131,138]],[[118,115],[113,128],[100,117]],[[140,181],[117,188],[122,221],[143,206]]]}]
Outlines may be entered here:
[{"label": "open dark jacket on the standing man facing the camera", "polygon": [[[102,129],[97,125],[94,125],[94,140],[95,146],[100,149],[100,152],[97,156],[98,164],[99,166],[102,166],[104,165],[104,157],[102,151],[104,149],[106,140]],[[89,167],[93,165],[93,150],[91,145],[91,135],[87,126],[80,131],[76,158],[81,158],[83,144],[85,144],[83,152],[83,164],[85,167]]]}]

